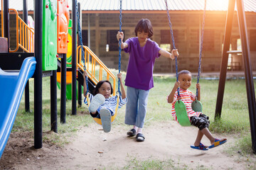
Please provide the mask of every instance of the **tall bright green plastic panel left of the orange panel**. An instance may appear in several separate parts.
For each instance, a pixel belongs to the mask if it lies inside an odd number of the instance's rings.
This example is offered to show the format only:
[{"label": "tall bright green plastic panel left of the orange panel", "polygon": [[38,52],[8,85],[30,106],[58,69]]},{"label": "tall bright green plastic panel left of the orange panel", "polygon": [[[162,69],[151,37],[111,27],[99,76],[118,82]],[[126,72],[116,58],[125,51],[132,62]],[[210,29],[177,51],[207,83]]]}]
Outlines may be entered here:
[{"label": "tall bright green plastic panel left of the orange panel", "polygon": [[57,69],[57,1],[43,1],[43,71]]}]

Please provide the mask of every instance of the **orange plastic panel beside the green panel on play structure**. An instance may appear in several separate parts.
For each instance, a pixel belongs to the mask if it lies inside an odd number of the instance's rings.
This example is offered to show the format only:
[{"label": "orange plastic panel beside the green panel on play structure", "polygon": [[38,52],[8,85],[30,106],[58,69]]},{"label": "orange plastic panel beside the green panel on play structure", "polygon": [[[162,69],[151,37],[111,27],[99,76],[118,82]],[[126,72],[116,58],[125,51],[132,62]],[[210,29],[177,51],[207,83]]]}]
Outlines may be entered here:
[{"label": "orange plastic panel beside the green panel on play structure", "polygon": [[58,53],[68,52],[68,0],[58,1],[58,18],[57,18],[57,31],[58,31]]}]

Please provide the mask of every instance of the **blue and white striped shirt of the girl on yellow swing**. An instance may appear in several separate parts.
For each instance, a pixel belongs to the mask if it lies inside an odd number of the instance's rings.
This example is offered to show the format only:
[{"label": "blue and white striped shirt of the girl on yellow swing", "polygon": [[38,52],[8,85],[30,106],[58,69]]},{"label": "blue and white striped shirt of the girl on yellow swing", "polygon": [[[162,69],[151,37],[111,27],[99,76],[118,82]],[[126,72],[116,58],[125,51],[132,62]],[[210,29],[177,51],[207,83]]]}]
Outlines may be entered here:
[{"label": "blue and white striped shirt of the girl on yellow swing", "polygon": [[[90,102],[92,101],[93,95],[89,94],[89,98],[90,98]],[[125,103],[127,103],[127,98],[122,98],[122,96],[119,96],[119,105],[118,108],[121,108],[122,106],[124,106]],[[88,106],[88,102],[87,102],[87,98],[85,97],[84,103]],[[98,109],[97,112],[100,113],[100,109],[102,108],[107,108],[111,115],[114,115],[114,111],[115,108],[117,107],[117,95],[116,96],[112,96],[110,98],[105,98],[105,103],[103,103]]]}]

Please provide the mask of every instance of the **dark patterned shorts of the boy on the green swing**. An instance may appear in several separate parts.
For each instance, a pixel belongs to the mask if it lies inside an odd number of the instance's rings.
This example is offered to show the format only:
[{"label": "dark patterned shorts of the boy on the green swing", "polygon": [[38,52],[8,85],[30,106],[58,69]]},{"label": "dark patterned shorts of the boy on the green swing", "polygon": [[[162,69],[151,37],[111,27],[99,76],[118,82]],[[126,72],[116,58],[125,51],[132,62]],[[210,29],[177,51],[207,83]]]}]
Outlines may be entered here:
[{"label": "dark patterned shorts of the boy on the green swing", "polygon": [[191,125],[196,126],[199,130],[203,130],[204,128],[209,128],[210,121],[207,115],[201,114],[198,117],[191,117]]}]

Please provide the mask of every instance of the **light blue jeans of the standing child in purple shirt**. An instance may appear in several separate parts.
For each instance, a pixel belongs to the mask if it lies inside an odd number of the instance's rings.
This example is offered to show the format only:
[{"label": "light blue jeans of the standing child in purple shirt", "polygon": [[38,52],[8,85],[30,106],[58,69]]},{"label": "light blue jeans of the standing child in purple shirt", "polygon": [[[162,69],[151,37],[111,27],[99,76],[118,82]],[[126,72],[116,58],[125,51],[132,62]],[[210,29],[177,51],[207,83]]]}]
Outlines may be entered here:
[{"label": "light blue jeans of the standing child in purple shirt", "polygon": [[138,128],[143,128],[148,96],[149,90],[145,91],[127,86],[128,102],[125,111],[125,124],[136,125]]}]

